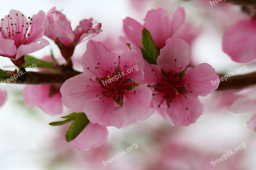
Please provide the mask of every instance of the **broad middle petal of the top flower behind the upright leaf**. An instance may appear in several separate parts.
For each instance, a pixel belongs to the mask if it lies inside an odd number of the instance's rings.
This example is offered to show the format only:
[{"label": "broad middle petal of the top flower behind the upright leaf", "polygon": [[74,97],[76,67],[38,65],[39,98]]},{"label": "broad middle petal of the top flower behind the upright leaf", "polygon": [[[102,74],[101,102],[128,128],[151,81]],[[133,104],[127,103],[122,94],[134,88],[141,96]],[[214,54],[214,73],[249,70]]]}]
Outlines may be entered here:
[{"label": "broad middle petal of the top flower behind the upright leaf", "polygon": [[167,11],[162,8],[148,11],[143,26],[150,32],[156,47],[163,48],[165,41],[170,38],[171,30],[171,20],[167,16]]}]

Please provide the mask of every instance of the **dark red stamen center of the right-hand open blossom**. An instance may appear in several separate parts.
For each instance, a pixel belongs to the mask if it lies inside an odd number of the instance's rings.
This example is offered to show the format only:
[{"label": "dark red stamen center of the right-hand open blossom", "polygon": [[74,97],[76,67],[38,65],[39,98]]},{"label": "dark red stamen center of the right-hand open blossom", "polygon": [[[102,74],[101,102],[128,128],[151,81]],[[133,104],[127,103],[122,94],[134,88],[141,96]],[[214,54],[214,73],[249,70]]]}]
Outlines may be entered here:
[{"label": "dark red stamen center of the right-hand open blossom", "polygon": [[[186,76],[185,71],[181,71],[182,68],[180,67],[177,73],[174,72],[176,61],[177,60],[175,59],[175,65],[172,73],[165,71],[163,67],[161,68],[161,73],[152,69],[152,72],[155,72],[157,79],[153,86],[148,85],[148,87],[154,88],[154,93],[152,94],[153,96],[162,96],[162,100],[160,101],[158,107],[160,107],[160,105],[166,101],[167,107],[170,108],[170,104],[172,103],[172,100],[175,96],[182,96],[187,98],[185,94],[188,92],[192,93],[191,91],[186,90],[186,86],[189,86],[189,83],[186,85],[182,84],[182,79]],[[186,108],[186,110],[188,110],[188,108]]]}]

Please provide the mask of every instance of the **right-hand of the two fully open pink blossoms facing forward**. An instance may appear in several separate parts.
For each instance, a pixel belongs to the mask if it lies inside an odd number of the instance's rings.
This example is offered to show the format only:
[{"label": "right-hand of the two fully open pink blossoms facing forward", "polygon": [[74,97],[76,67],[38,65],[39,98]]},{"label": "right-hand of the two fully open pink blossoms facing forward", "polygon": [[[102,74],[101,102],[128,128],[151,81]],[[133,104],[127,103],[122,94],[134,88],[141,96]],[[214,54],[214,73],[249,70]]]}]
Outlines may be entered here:
[{"label": "right-hand of the two fully open pink blossoms facing forward", "polygon": [[157,65],[145,64],[145,79],[153,91],[154,106],[173,126],[195,123],[204,111],[198,96],[206,96],[219,86],[211,83],[219,78],[211,65],[202,63],[186,69],[189,62],[188,43],[169,38],[160,50]]}]

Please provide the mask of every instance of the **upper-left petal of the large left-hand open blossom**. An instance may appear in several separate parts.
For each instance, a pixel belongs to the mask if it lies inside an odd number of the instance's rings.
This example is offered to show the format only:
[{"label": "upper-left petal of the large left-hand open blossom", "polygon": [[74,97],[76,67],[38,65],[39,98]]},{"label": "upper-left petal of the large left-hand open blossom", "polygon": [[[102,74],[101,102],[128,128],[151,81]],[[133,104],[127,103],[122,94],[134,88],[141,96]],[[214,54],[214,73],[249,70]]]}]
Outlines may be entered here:
[{"label": "upper-left petal of the large left-hand open blossom", "polygon": [[87,42],[86,47],[87,47],[86,52],[84,53],[81,59],[81,63],[84,71],[88,71],[87,70],[88,67],[90,69],[94,69],[94,67],[98,66],[98,63],[100,63],[100,66],[104,70],[110,71],[109,69],[111,67],[114,67],[114,62],[118,63],[118,54],[110,52],[103,45],[102,42],[89,40]]}]

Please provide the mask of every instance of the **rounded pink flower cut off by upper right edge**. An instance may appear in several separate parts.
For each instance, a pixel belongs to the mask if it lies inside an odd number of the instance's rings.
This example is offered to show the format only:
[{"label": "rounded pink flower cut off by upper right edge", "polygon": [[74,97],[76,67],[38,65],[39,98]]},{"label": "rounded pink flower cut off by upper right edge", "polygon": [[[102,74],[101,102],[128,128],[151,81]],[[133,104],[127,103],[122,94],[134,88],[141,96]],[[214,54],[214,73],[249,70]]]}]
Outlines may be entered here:
[{"label": "rounded pink flower cut off by upper right edge", "polygon": [[248,63],[256,58],[256,20],[245,19],[231,26],[223,36],[222,48],[232,60]]}]

